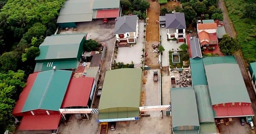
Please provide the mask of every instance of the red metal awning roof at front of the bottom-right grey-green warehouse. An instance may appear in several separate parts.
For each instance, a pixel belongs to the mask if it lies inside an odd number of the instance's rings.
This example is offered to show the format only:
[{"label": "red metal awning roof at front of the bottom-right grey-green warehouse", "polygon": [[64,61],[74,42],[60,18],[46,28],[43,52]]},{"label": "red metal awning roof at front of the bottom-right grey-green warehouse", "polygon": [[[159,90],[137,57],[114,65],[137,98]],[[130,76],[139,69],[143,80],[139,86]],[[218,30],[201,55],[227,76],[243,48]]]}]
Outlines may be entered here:
[{"label": "red metal awning roof at front of the bottom-right grey-green warehouse", "polygon": [[251,105],[216,106],[213,107],[215,117],[254,116]]}]

